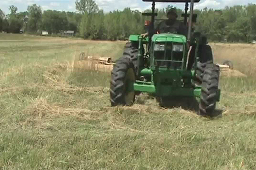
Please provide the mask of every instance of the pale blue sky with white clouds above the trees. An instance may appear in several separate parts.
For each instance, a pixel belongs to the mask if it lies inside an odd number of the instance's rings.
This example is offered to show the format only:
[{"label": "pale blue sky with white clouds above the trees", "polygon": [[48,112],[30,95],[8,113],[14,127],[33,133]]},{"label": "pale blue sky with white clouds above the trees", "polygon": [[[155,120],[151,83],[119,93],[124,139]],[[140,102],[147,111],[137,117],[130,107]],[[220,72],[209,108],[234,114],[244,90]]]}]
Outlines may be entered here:
[{"label": "pale blue sky with white clouds above the trees", "polygon": [[[76,11],[76,0],[0,0],[0,9],[5,14],[9,14],[9,6],[17,6],[18,12],[26,11],[27,7],[32,4],[41,6],[43,11],[47,9],[58,11]],[[105,12],[113,10],[123,10],[131,8],[132,10],[144,11],[151,8],[150,2],[142,0],[95,0],[99,8]],[[248,3],[256,4],[256,0],[201,0],[196,3],[195,9],[214,8],[221,9],[225,6],[247,5]],[[184,3],[156,3],[156,8],[164,8],[168,5],[174,5],[177,8],[184,8]]]}]

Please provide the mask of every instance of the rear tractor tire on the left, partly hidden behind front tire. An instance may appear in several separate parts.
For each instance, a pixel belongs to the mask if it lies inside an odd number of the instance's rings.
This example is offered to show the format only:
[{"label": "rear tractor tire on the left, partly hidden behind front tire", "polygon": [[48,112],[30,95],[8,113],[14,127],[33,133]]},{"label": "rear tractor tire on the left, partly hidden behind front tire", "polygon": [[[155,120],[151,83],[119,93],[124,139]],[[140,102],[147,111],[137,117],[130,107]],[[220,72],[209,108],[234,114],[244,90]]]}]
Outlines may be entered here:
[{"label": "rear tractor tire on the left, partly hidden behind front tire", "polygon": [[123,56],[131,58],[132,63],[133,63],[134,68],[135,68],[136,76],[137,76],[137,73],[138,73],[138,65],[139,65],[137,54],[138,54],[138,43],[127,42],[125,44]]}]

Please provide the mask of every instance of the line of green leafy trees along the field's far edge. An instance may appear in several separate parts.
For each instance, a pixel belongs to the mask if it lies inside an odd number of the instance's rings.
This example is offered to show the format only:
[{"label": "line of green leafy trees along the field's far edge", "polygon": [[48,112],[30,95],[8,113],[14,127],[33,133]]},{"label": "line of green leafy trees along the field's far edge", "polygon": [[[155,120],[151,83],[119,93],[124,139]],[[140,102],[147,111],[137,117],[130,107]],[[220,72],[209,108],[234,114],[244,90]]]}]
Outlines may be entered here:
[{"label": "line of green leafy trees along the field's far edge", "polygon": [[[140,11],[125,8],[105,13],[93,0],[76,0],[77,12],[46,10],[33,4],[24,12],[17,12],[10,6],[5,15],[0,9],[0,31],[41,34],[46,30],[50,35],[72,30],[77,37],[91,40],[124,40],[130,34],[145,32],[145,20]],[[156,9],[157,19],[166,19],[166,12],[172,6]],[[150,9],[143,12],[149,12]],[[177,9],[178,19],[183,20],[184,11]],[[195,10],[198,19],[195,31],[205,34],[210,41],[251,42],[256,40],[256,5],[225,7],[214,10],[204,8]],[[156,22],[159,22],[157,20]]]}]

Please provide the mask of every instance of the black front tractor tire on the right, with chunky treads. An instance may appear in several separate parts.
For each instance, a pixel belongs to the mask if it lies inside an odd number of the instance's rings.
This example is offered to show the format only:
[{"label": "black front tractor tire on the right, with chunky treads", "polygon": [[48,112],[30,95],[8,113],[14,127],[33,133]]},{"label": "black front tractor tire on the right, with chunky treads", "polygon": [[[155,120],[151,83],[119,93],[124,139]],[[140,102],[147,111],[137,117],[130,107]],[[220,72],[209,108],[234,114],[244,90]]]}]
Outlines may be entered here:
[{"label": "black front tractor tire on the right, with chunky treads", "polygon": [[218,84],[220,68],[218,65],[209,64],[204,71],[199,102],[199,114],[201,116],[214,116],[218,96]]}]

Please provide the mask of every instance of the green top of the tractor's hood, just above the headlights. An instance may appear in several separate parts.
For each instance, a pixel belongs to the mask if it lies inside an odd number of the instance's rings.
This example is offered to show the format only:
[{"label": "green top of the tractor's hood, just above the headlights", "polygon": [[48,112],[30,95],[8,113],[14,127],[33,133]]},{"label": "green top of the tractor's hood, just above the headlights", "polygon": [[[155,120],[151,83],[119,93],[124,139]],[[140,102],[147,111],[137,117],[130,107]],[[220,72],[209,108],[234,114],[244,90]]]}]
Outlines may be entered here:
[{"label": "green top of the tractor's hood, just above the headlights", "polygon": [[154,34],[152,42],[180,42],[186,43],[186,37],[179,34]]}]

